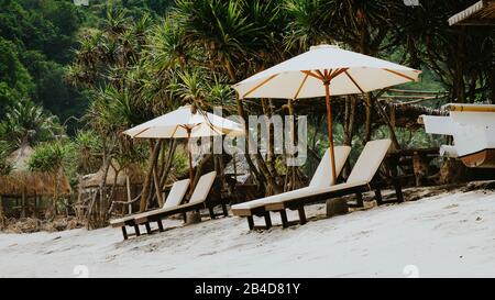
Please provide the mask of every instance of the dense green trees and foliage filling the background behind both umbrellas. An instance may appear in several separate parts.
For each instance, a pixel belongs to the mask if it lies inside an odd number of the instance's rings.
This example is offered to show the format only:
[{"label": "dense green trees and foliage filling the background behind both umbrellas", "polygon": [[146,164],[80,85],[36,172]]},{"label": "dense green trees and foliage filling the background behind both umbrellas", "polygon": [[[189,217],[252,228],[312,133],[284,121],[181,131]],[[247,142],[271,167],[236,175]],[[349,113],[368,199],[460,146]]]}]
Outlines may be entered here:
[{"label": "dense green trees and foliage filling the background behind both umbrellas", "polygon": [[[447,23],[473,1],[420,2],[89,0],[88,7],[76,7],[0,0],[0,170],[9,170],[2,163],[8,149],[25,143],[44,154],[33,158],[33,168],[62,166],[73,181],[76,174],[108,168],[114,159],[122,167],[156,165],[153,154],[175,149],[173,143],[138,143],[121,133],[183,103],[205,110],[221,104],[226,114],[289,114],[290,102],[241,102],[230,85],[318,43],[422,69],[424,81],[406,88],[444,90],[443,102],[495,103],[494,30]],[[338,141],[363,143],[393,134],[397,147],[431,143],[409,129],[386,130],[375,111],[380,95],[334,101]],[[294,111],[309,115],[310,153],[321,154],[323,105],[296,103]],[[246,159],[267,192],[296,186],[276,178],[294,171],[292,178],[300,181],[311,165],[286,170],[279,167],[285,157],[270,153]],[[153,197],[152,173],[142,209]],[[166,178],[165,168],[158,173]]]}]

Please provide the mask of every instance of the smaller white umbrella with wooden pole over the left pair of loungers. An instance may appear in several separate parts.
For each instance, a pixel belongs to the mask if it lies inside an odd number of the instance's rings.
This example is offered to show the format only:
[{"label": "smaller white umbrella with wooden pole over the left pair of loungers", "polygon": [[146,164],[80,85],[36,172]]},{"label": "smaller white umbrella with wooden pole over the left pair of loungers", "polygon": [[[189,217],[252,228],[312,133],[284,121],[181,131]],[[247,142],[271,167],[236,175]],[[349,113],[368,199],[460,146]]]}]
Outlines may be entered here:
[{"label": "smaller white umbrella with wooden pole over the left pair of loungers", "polygon": [[[244,129],[220,115],[184,105],[123,132],[132,138],[187,138],[223,134],[242,135]],[[193,181],[193,157],[188,145],[189,178]]]}]

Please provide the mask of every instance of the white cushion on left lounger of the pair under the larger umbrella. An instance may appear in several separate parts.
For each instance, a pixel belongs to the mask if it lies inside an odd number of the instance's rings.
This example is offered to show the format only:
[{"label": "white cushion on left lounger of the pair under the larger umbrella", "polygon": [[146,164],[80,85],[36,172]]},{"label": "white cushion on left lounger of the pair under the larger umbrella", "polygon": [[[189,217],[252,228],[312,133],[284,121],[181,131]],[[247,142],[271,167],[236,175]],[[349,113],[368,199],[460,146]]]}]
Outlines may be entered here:
[{"label": "white cushion on left lounger of the pair under the larger umbrella", "polygon": [[[337,146],[333,148],[333,153],[336,154],[336,171],[338,175],[345,165],[350,152],[351,152],[350,146]],[[332,174],[330,168],[330,149],[328,148],[323,157],[321,158],[320,164],[318,165],[315,175],[312,176],[311,182],[309,184],[308,187],[235,204],[232,205],[231,209],[232,210],[254,209],[257,207],[263,207],[268,202],[284,201],[287,199],[294,199],[298,197],[304,197],[306,195],[311,195],[311,192],[317,189],[330,187],[331,177]]]}]

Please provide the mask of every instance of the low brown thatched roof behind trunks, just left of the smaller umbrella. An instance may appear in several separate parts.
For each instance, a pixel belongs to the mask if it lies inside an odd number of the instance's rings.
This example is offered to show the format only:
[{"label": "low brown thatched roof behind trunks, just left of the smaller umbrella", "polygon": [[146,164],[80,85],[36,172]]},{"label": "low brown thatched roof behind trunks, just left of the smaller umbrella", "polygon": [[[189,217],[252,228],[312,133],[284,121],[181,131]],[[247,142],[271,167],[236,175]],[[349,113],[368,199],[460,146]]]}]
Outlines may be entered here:
[{"label": "low brown thatched roof behind trunks, just left of the smaller umbrella", "polygon": [[[125,186],[128,176],[131,185],[142,185],[144,182],[145,174],[139,165],[131,165],[120,170],[118,176],[116,166],[117,165],[113,163],[108,169],[106,181],[107,186],[113,186],[113,184],[116,184],[116,186]],[[85,175],[79,180],[79,188],[87,189],[99,187],[103,176],[103,167],[101,167],[97,173]]]}]

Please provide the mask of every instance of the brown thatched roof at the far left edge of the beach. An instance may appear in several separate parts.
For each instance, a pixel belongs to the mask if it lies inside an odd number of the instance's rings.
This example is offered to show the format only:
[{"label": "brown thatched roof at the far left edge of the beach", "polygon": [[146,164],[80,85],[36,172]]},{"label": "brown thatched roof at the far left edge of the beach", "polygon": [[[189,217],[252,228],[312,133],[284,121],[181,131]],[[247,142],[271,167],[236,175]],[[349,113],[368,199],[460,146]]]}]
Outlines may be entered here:
[{"label": "brown thatched roof at the far left edge of the beach", "polygon": [[70,184],[65,175],[30,171],[28,160],[34,149],[23,145],[14,151],[7,160],[12,164],[13,170],[10,175],[0,176],[0,195],[4,196],[54,196],[57,193],[70,193]]}]

